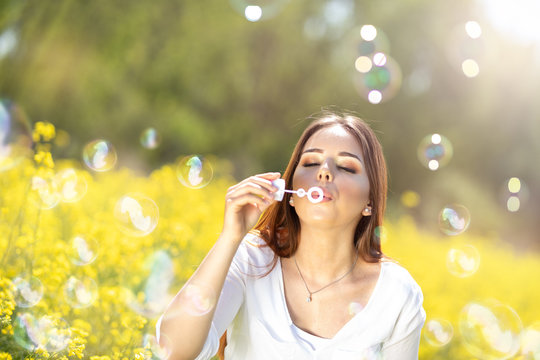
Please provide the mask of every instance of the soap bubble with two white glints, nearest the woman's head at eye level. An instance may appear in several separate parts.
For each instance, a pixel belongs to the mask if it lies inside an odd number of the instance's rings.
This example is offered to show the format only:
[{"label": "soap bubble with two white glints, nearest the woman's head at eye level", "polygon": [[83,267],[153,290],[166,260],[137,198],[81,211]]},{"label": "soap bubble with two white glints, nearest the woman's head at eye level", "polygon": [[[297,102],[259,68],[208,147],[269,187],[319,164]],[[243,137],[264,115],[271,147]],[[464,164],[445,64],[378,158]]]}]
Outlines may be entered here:
[{"label": "soap bubble with two white glints, nearest the woman's head at eye level", "polygon": [[452,143],[440,134],[427,135],[418,145],[417,155],[426,168],[438,170],[452,159]]}]

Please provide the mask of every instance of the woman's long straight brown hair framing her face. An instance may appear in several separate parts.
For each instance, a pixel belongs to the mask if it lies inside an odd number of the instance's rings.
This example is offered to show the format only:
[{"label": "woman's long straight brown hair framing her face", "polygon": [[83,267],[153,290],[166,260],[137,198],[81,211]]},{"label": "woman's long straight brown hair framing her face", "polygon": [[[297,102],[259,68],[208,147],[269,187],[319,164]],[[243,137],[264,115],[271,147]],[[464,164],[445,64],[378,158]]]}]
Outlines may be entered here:
[{"label": "woman's long straight brown hair framing her face", "polygon": [[[375,133],[362,119],[351,114],[338,114],[330,111],[323,111],[315,116],[296,143],[289,164],[283,173],[286,189],[292,188],[293,175],[307,141],[317,131],[336,125],[343,127],[353,135],[362,148],[369,179],[371,216],[363,216],[358,222],[354,234],[354,245],[358,249],[359,256],[364,261],[378,262],[384,257],[380,237],[376,229],[383,223],[386,208],[388,188],[386,162],[382,146]],[[300,220],[294,208],[289,205],[290,197],[291,194],[285,193],[282,201],[270,205],[254,227],[254,230],[274,252],[274,262],[268,273],[275,267],[278,257],[290,257],[298,249]],[[218,353],[220,359],[224,358],[225,336],[226,334],[223,335],[220,342],[220,351]]]}]

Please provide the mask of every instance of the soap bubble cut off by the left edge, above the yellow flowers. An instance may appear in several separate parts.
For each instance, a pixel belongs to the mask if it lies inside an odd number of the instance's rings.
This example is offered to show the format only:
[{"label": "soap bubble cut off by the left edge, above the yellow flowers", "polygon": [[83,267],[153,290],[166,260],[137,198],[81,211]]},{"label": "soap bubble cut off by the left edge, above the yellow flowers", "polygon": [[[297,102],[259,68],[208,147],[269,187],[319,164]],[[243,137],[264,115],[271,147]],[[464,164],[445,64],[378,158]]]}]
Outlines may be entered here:
[{"label": "soap bubble cut off by the left edge, above the yellow flowers", "polygon": [[32,126],[26,115],[12,102],[0,99],[0,172],[32,154]]}]

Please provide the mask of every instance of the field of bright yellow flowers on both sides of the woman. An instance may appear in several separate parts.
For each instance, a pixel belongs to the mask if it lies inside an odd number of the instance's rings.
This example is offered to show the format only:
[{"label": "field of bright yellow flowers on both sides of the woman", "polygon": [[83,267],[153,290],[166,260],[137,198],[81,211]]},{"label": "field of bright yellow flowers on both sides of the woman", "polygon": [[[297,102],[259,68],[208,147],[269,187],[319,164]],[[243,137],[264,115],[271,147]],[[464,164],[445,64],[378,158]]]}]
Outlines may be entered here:
[{"label": "field of bright yellow flowers on both sides of the woman", "polygon": [[[166,358],[155,322],[218,236],[229,165],[192,189],[173,164],[91,172],[38,148],[0,173],[0,359]],[[406,218],[381,238],[424,292],[420,359],[540,359],[540,256]]]}]

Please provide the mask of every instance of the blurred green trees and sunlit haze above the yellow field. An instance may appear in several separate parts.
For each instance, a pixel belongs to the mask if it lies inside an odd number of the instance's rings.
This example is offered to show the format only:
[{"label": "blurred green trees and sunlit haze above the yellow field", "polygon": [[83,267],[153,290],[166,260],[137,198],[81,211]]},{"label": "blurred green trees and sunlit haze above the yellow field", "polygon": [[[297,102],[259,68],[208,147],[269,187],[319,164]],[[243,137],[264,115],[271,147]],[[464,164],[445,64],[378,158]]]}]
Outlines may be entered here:
[{"label": "blurred green trees and sunlit haze above the yellow field", "polygon": [[[429,226],[457,202],[469,231],[540,248],[538,1],[0,4],[0,95],[57,127],[55,158],[105,138],[119,167],[214,154],[241,179],[282,171],[306,117],[334,107],[377,131],[390,217]],[[418,154],[431,134],[436,169]]]}]

